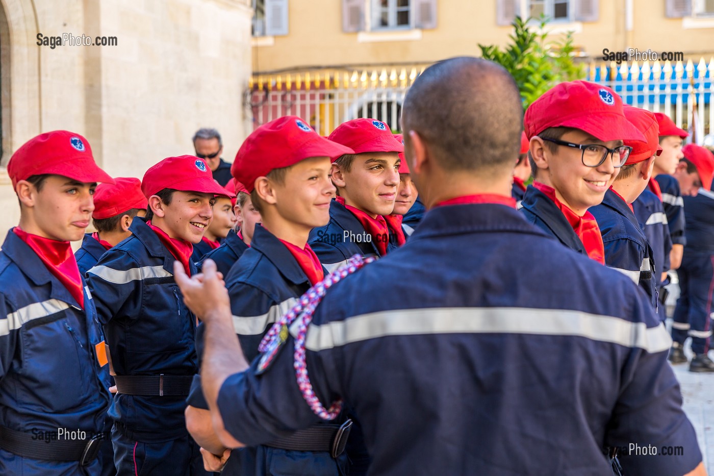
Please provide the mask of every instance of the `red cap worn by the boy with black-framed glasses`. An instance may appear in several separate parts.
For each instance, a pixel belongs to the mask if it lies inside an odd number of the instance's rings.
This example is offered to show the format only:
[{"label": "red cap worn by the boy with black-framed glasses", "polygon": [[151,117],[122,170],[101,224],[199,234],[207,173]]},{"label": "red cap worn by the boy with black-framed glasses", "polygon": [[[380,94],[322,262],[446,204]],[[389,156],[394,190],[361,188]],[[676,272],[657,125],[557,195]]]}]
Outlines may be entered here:
[{"label": "red cap worn by the boy with black-framed glasses", "polygon": [[607,86],[588,81],[548,89],[528,107],[523,124],[529,140],[549,127],[573,127],[603,142],[645,140],[625,119],[622,98]]}]

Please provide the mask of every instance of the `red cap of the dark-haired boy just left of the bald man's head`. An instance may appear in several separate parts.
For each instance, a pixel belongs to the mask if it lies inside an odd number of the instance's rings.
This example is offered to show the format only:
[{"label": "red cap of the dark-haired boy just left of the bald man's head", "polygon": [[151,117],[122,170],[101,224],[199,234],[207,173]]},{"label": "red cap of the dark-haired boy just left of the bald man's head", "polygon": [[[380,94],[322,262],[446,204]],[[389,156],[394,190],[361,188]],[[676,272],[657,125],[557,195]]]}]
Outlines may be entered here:
[{"label": "red cap of the dark-haired boy just left of the bald man's head", "polygon": [[394,139],[387,124],[376,119],[352,119],[343,122],[329,139],[353,149],[355,154],[362,152],[404,152],[401,141]]}]

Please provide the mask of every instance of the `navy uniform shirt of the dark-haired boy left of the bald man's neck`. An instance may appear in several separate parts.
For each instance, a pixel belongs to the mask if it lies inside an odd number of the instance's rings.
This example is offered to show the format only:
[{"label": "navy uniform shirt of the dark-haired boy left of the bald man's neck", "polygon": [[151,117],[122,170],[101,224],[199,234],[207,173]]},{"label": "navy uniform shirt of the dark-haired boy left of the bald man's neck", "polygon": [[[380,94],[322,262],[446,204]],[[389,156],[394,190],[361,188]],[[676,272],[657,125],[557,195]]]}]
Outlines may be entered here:
[{"label": "navy uniform shirt of the dark-haired boy left of the bald man's neck", "polygon": [[[330,203],[330,222],[324,227],[313,228],[308,244],[328,272],[332,272],[355,254],[379,255],[370,234],[352,212],[336,199]],[[394,249],[397,249],[395,244],[387,244],[388,252]]]}]

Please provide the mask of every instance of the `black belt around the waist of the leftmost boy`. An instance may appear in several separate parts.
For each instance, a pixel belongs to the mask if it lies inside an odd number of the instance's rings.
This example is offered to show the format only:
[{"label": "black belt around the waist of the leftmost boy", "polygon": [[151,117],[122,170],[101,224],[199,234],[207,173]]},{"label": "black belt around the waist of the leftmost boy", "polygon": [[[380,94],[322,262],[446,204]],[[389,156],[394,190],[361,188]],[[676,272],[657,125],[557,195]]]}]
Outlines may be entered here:
[{"label": "black belt around the waist of the leftmost boy", "polygon": [[[86,434],[79,430],[76,433]],[[99,455],[102,440],[109,438],[109,433],[97,433],[82,440],[79,438],[69,440],[65,437],[79,437],[79,435],[74,431],[62,436],[59,432],[25,433],[0,426],[0,448],[5,451],[33,460],[79,461],[81,466],[89,465],[94,461]]]}]

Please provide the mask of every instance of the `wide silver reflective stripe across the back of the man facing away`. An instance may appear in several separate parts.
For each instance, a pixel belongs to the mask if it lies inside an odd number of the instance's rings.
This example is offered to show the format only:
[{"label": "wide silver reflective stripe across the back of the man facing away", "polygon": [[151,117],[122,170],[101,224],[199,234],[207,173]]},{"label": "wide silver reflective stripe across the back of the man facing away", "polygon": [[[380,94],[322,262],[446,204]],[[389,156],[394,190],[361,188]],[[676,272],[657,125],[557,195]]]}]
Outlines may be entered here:
[{"label": "wide silver reflective stripe across the back of the man facing away", "polygon": [[[295,323],[290,330],[297,332]],[[321,351],[378,337],[455,333],[580,336],[647,352],[663,352],[672,345],[663,324],[648,328],[644,322],[567,309],[457,307],[400,309],[310,324],[306,347]]]}]

